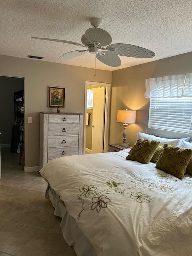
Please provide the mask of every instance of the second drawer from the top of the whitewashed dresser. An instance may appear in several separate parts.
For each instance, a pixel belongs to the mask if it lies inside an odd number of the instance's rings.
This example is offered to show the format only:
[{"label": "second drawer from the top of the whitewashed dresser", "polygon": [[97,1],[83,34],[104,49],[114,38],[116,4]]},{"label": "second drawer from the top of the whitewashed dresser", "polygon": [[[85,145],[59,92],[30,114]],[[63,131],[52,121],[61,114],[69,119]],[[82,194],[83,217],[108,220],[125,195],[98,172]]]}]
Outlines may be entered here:
[{"label": "second drawer from the top of the whitewashed dresser", "polygon": [[79,124],[49,124],[48,135],[75,135],[79,133]]}]

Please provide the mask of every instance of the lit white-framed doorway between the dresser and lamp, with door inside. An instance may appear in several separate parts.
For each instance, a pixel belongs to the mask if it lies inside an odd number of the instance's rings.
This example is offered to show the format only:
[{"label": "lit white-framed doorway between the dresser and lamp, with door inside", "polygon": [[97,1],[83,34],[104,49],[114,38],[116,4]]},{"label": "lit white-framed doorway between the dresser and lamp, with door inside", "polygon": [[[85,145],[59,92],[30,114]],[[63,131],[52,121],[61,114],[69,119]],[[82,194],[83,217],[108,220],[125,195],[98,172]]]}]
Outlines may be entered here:
[{"label": "lit white-framed doorway between the dresser and lamp, with door inside", "polygon": [[84,154],[108,151],[110,84],[85,83]]}]

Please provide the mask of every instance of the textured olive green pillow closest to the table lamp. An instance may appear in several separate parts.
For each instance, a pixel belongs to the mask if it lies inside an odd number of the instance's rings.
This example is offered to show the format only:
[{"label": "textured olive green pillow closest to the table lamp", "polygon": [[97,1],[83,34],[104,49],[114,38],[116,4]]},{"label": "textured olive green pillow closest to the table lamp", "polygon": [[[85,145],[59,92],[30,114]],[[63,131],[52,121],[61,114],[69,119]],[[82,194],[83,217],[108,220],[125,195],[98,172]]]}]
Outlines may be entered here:
[{"label": "textured olive green pillow closest to the table lamp", "polygon": [[158,148],[159,143],[160,141],[139,138],[126,159],[148,164]]}]

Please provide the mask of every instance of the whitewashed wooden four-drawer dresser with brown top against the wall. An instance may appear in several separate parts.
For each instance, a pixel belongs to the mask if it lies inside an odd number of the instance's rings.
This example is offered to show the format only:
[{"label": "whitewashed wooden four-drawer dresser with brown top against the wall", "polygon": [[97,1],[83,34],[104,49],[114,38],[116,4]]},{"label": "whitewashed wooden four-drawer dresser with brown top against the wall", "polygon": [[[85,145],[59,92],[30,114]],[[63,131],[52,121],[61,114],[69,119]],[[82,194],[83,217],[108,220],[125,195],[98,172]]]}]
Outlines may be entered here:
[{"label": "whitewashed wooden four-drawer dresser with brown top against the wall", "polygon": [[82,154],[83,114],[40,112],[39,168],[61,156]]}]

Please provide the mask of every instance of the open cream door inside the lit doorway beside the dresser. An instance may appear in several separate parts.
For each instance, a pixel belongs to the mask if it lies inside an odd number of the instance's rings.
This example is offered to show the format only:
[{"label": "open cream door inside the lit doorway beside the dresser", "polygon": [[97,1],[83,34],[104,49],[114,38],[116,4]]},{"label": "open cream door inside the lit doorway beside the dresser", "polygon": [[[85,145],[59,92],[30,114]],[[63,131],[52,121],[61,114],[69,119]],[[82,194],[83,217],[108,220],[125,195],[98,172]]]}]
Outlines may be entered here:
[{"label": "open cream door inside the lit doorway beside the dresser", "polygon": [[92,117],[92,153],[103,152],[105,87],[94,88]]}]

